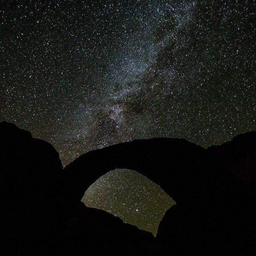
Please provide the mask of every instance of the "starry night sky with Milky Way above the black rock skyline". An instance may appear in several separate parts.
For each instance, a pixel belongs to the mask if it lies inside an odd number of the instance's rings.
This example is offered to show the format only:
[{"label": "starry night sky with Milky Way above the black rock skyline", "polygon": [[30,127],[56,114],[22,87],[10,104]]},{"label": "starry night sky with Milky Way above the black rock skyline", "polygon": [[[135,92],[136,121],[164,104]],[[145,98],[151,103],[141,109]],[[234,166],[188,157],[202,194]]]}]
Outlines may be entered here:
[{"label": "starry night sky with Milky Way above the black rock skyline", "polygon": [[134,139],[256,130],[255,78],[254,0],[0,4],[0,121],[64,166]]}]

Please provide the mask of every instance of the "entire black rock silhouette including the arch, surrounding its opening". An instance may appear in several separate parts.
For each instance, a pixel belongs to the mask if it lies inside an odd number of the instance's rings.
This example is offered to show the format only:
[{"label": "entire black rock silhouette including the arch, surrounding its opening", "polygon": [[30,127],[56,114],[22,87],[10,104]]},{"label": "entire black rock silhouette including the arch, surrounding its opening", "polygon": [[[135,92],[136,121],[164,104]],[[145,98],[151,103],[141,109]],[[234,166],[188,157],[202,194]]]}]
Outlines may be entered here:
[{"label": "entire black rock silhouette including the arch, surrounding its opening", "polygon": [[[88,152],[62,169],[58,153],[0,123],[5,255],[253,255],[256,132],[208,149],[184,139],[134,140]],[[80,202],[116,168],[136,170],[175,201],[156,238]]]}]

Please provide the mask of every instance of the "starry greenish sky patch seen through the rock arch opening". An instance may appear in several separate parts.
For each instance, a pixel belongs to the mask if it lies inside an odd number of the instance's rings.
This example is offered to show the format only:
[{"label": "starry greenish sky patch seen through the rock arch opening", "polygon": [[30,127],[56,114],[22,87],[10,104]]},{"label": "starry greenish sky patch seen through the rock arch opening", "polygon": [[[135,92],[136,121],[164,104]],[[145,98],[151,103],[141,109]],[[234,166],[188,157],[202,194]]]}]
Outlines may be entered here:
[{"label": "starry greenish sky patch seen through the rock arch opening", "polygon": [[104,174],[86,190],[81,201],[87,207],[109,212],[154,236],[165,212],[176,204],[160,186],[130,169],[115,169]]}]

